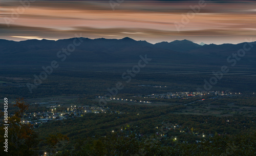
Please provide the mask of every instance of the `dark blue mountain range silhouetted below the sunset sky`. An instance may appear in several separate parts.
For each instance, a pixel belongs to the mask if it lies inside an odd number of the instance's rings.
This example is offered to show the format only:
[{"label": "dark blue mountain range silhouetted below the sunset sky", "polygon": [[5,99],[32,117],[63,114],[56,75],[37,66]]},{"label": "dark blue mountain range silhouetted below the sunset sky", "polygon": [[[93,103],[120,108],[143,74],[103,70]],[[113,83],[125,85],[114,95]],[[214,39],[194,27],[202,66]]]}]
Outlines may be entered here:
[{"label": "dark blue mountain range silhouetted below the sunset sky", "polygon": [[[42,65],[52,60],[59,61],[57,53],[67,49],[75,38],[59,40],[11,41],[0,39],[0,56],[5,65]],[[147,55],[152,62],[177,62],[204,64],[232,64],[233,55],[246,50],[245,55],[238,60],[243,65],[256,65],[256,42],[239,44],[197,44],[189,40],[175,40],[152,44],[146,41],[136,41],[125,37],[122,39],[77,38],[82,43],[67,56],[63,63],[128,63],[137,62],[140,55]],[[246,46],[245,46],[246,44]],[[203,46],[202,46],[203,45]],[[248,50],[250,49],[250,50]],[[227,61],[227,58],[229,61]]]}]

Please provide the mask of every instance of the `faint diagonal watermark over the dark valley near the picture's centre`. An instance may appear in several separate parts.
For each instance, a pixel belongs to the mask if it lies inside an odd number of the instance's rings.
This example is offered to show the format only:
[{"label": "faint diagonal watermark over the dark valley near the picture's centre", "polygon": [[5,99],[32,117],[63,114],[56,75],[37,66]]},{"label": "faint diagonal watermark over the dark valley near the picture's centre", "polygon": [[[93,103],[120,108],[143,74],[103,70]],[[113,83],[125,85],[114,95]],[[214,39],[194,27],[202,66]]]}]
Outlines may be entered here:
[{"label": "faint diagonal watermark over the dark valley near the picture's centre", "polygon": [[[126,80],[126,83],[131,82],[132,78],[136,76],[136,74],[138,74],[141,70],[141,68],[144,68],[146,66],[146,64],[152,60],[152,58],[147,58],[147,55],[143,56],[139,56],[141,59],[138,61],[137,65],[134,65],[132,70],[127,70],[126,72],[124,72],[122,74],[122,79]],[[107,90],[109,91],[109,93],[105,94],[104,97],[114,97],[118,94],[118,91],[122,90],[124,87],[122,82],[117,82],[115,87],[112,88],[108,88]],[[103,103],[103,104],[102,104]],[[107,102],[104,99],[100,99],[99,100],[99,105],[100,106],[105,106],[107,104]]]}]

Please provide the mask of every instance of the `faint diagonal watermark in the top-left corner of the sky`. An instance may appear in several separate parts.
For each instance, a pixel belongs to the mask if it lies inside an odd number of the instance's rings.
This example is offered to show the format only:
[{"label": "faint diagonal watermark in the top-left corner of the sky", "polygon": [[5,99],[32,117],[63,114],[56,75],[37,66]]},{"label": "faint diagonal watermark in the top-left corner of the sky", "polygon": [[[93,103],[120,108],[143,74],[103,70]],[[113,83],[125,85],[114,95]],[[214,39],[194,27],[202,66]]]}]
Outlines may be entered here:
[{"label": "faint diagonal watermark in the top-left corner of the sky", "polygon": [[35,2],[37,0],[20,0],[20,6],[18,6],[16,9],[11,9],[12,13],[10,17],[4,17],[5,23],[8,27],[10,27],[10,24],[14,23],[15,20],[19,18],[19,15],[24,13],[26,9],[28,9],[31,5],[31,3]]}]

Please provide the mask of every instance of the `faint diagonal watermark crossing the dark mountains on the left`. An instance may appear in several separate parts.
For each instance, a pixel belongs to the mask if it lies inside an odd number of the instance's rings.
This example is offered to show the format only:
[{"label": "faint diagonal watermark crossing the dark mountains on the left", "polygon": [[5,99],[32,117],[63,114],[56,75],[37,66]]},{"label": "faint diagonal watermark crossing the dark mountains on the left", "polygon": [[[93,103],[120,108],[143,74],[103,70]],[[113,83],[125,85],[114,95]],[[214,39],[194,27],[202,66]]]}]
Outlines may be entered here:
[{"label": "faint diagonal watermark crossing the dark mountains on the left", "polygon": [[[80,36],[75,34],[73,43],[68,44],[67,48],[62,48],[60,51],[57,52],[56,56],[60,59],[61,62],[65,61],[67,59],[67,56],[70,56],[72,52],[75,51],[76,47],[80,46],[80,44],[83,42],[81,39],[82,34],[80,33]],[[50,65],[48,66],[42,66],[42,72],[38,75],[34,74],[34,83],[27,83],[27,87],[29,89],[29,92],[32,94],[33,89],[37,88],[42,81],[46,80],[49,75],[52,74],[54,69],[57,69],[59,67],[59,62],[56,60],[52,60]]]}]

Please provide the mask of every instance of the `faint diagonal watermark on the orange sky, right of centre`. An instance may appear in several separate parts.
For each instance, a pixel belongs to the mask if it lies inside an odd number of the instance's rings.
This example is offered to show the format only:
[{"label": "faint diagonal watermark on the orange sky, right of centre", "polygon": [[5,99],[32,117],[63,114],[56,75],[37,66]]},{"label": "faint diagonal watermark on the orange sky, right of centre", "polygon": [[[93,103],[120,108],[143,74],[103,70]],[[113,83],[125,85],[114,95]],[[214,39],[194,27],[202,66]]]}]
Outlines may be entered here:
[{"label": "faint diagonal watermark on the orange sky, right of centre", "polygon": [[176,30],[180,32],[182,28],[184,28],[186,25],[189,24],[190,20],[197,15],[202,8],[206,6],[206,3],[204,0],[198,1],[198,5],[192,6],[190,5],[189,8],[191,9],[186,14],[182,14],[182,18],[180,21],[175,21],[174,25],[176,27]]}]

